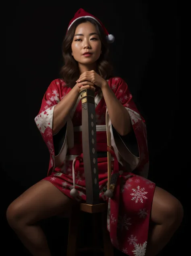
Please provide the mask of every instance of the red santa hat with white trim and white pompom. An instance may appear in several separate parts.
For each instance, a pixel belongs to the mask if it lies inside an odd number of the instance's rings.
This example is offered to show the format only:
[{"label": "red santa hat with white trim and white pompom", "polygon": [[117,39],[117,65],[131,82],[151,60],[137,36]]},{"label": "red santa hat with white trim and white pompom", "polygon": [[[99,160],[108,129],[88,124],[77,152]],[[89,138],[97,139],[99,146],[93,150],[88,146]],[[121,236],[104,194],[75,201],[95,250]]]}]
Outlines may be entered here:
[{"label": "red santa hat with white trim and white pompom", "polygon": [[69,26],[68,26],[68,30],[71,28],[71,25],[73,25],[73,23],[75,21],[77,21],[78,19],[81,19],[81,18],[91,18],[91,19],[94,19],[95,21],[97,21],[101,27],[103,28],[105,34],[106,34],[106,38],[107,38],[107,41],[109,43],[112,43],[114,42],[115,38],[113,35],[109,34],[108,31],[106,30],[105,26],[103,25],[103,23],[98,19],[96,18],[95,16],[93,16],[92,14],[90,13],[87,13],[86,11],[84,11],[82,8],[80,8],[74,15],[73,19],[71,19],[70,23],[69,23]]}]

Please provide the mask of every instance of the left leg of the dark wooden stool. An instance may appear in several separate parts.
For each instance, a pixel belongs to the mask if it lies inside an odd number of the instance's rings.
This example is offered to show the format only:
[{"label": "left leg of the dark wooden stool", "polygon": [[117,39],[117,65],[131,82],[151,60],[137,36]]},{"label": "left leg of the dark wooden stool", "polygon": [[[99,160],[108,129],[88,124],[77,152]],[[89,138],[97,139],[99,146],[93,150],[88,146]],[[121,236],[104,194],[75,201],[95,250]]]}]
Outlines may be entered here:
[{"label": "left leg of the dark wooden stool", "polygon": [[77,236],[79,231],[80,223],[80,211],[73,209],[71,212],[69,222],[69,234],[68,234],[68,245],[67,245],[67,256],[77,255]]}]

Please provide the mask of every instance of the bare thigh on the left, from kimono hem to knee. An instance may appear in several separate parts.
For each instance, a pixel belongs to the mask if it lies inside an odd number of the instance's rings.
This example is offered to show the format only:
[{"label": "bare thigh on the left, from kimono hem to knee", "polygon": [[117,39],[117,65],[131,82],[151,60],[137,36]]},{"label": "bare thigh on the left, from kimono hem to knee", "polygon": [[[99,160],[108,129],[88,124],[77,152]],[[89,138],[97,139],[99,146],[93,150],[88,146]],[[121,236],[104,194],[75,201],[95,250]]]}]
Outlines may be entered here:
[{"label": "bare thigh on the left, from kimono hem to knee", "polygon": [[8,222],[33,224],[69,211],[73,204],[77,202],[66,197],[51,182],[40,181],[9,205],[7,219]]}]

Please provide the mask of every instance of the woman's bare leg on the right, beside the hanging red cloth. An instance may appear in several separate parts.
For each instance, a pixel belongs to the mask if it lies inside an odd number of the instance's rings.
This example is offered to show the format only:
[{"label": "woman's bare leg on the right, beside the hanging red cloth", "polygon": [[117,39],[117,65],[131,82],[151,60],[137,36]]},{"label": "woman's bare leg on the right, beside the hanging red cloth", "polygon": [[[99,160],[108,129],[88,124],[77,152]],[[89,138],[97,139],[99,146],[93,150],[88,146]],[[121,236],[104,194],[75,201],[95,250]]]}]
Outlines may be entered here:
[{"label": "woman's bare leg on the right, beside the hanging red cloth", "polygon": [[166,190],[156,187],[145,256],[155,256],[168,243],[183,219],[183,207]]}]

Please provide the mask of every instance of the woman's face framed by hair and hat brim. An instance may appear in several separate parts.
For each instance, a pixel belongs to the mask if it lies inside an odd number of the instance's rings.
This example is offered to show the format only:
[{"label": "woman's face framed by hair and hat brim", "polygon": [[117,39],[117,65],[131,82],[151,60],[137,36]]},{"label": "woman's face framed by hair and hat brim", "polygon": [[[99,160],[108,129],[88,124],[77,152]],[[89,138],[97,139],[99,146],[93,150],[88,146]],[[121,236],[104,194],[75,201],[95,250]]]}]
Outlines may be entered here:
[{"label": "woman's face framed by hair and hat brim", "polygon": [[95,63],[100,57],[101,47],[98,31],[91,22],[77,26],[71,48],[72,55],[79,64],[88,66]]}]

